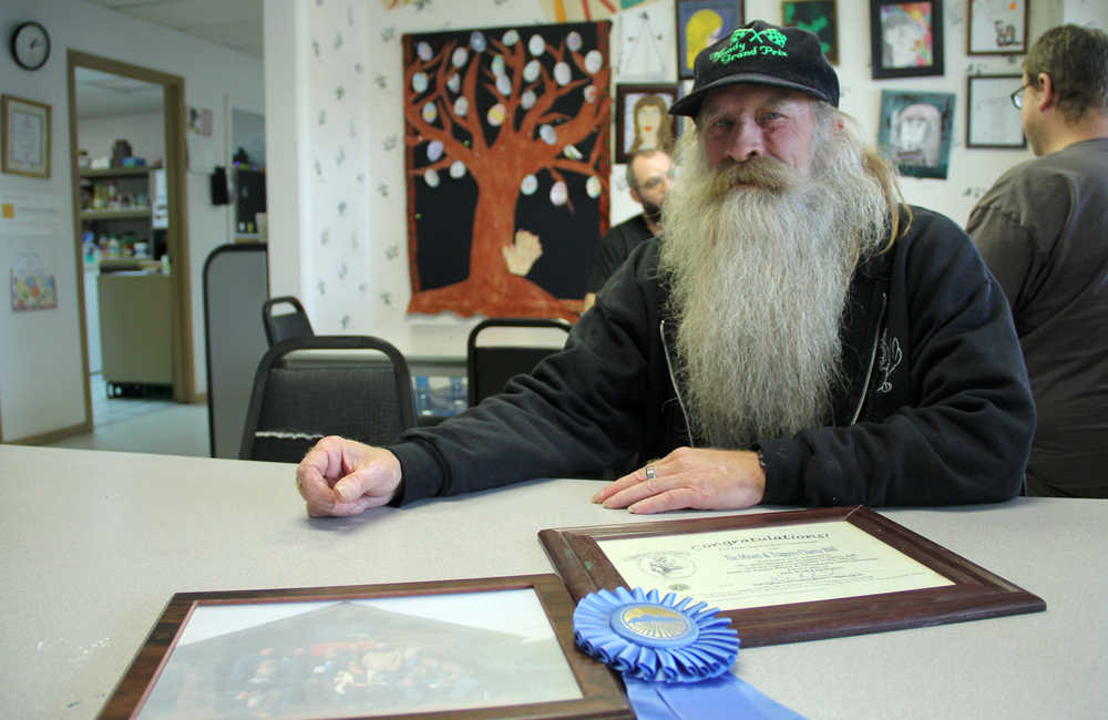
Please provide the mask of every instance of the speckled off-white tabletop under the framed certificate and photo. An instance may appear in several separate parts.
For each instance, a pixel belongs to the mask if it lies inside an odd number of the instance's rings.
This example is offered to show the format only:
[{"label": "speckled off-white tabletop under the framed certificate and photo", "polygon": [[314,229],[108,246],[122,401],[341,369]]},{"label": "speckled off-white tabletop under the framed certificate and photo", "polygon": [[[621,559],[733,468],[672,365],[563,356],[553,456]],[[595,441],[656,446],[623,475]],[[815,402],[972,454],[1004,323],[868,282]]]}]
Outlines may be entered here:
[{"label": "speckled off-white tabletop under the framed certificate and photo", "polygon": [[[545,527],[673,520],[533,481],[312,520],[293,465],[0,445],[0,717],[90,718],[176,592],[553,572]],[[1108,717],[1108,501],[882,514],[1044,598],[1045,613],[739,652],[810,718]]]}]

